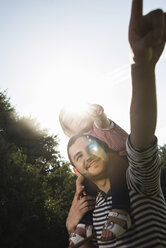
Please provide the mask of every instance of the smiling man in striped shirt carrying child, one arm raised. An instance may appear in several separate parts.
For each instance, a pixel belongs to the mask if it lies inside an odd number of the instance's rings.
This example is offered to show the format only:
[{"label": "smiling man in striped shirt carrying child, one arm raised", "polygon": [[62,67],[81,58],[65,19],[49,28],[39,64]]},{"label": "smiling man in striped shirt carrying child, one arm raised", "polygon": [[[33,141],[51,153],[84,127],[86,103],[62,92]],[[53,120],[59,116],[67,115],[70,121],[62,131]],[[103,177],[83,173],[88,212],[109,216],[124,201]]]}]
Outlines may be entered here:
[{"label": "smiling man in striped shirt carrying child, one arm raised", "polygon": [[[142,0],[133,0],[129,25],[129,42],[133,52],[131,133],[126,144],[129,162],[126,181],[130,196],[132,227],[119,238],[111,241],[101,240],[101,230],[110,210],[107,206],[111,204],[111,195],[107,194],[111,188],[107,174],[107,153],[103,152],[98,159],[92,159],[87,152],[86,137],[79,137],[69,147],[70,159],[74,166],[99,188],[93,213],[95,247],[166,247],[166,203],[160,187],[161,164],[154,135],[157,119],[155,66],[162,54],[165,41],[166,14],[161,10],[155,10],[143,16]],[[116,153],[110,152],[110,164],[119,163],[120,159]],[[81,215],[88,208],[92,208],[88,204],[89,197],[79,198],[81,192],[81,189],[77,191],[69,212],[67,219],[69,232],[79,223]],[[81,246],[87,247],[93,246],[91,243]]]}]

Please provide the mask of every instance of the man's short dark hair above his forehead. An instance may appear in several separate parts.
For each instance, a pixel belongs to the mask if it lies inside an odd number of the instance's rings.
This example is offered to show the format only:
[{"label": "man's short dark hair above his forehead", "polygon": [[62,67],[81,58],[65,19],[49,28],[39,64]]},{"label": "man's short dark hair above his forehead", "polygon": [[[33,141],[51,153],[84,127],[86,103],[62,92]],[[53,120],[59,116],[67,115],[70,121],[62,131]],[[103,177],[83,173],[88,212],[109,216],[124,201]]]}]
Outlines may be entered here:
[{"label": "man's short dark hair above his forehead", "polygon": [[71,137],[70,140],[69,140],[69,142],[68,142],[68,144],[67,144],[68,158],[69,158],[70,163],[71,163],[71,165],[73,167],[75,167],[75,165],[73,164],[73,161],[72,161],[72,159],[70,157],[69,149],[77,141],[77,139],[79,139],[80,137],[85,137],[87,139],[90,139],[91,142],[97,143],[106,153],[108,153],[109,151],[113,151],[112,149],[109,148],[109,146],[104,141],[101,141],[100,139],[98,139],[98,138],[96,138],[94,136],[77,134],[77,135]]}]

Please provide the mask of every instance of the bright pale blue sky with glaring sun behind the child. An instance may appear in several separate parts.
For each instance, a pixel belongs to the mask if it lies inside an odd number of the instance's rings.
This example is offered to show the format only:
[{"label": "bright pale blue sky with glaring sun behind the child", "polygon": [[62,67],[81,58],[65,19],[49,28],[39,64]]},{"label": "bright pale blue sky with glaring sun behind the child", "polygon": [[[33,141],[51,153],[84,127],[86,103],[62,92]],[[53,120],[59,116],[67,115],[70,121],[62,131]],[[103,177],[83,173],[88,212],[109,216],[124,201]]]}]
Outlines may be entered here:
[{"label": "bright pale blue sky with glaring sun behind the child", "polygon": [[[144,14],[165,0],[144,0]],[[128,24],[131,0],[0,0],[0,91],[20,116],[36,118],[67,138],[58,114],[64,104],[101,104],[129,132],[131,99]],[[166,144],[166,49],[156,68],[159,145]]]}]

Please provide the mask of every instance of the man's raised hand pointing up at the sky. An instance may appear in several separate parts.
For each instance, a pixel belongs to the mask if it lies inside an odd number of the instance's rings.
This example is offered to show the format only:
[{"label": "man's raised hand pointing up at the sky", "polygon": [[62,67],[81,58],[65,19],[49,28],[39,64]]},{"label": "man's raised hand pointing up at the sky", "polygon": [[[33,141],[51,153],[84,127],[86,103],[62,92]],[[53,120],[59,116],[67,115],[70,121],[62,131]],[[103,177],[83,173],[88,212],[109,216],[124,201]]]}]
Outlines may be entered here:
[{"label": "man's raised hand pointing up at the sky", "polygon": [[133,0],[129,42],[135,64],[155,67],[166,41],[166,13],[156,9],[142,15],[142,0]]}]

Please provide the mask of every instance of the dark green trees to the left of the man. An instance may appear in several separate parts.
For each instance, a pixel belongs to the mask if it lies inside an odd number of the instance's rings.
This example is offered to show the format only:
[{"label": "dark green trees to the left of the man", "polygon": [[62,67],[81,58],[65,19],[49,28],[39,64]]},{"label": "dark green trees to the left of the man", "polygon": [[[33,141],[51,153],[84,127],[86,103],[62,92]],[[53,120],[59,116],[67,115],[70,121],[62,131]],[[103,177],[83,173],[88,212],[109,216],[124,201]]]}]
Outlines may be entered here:
[{"label": "dark green trees to the left of the man", "polygon": [[67,247],[75,176],[57,145],[0,93],[0,247]]}]

